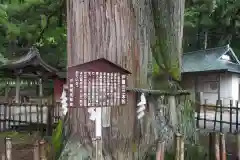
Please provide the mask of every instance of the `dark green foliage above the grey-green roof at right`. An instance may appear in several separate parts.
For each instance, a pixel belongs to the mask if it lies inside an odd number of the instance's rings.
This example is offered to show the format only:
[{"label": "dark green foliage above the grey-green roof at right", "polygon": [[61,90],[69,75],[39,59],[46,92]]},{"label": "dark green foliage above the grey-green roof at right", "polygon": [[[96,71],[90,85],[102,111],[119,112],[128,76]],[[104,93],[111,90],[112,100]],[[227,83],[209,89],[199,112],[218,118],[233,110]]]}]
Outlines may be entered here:
[{"label": "dark green foliage above the grey-green roof at right", "polygon": [[[208,48],[229,43],[239,48],[239,24],[239,0],[186,0],[184,50],[203,49],[205,32],[208,33]],[[192,29],[195,32],[189,33]]]}]

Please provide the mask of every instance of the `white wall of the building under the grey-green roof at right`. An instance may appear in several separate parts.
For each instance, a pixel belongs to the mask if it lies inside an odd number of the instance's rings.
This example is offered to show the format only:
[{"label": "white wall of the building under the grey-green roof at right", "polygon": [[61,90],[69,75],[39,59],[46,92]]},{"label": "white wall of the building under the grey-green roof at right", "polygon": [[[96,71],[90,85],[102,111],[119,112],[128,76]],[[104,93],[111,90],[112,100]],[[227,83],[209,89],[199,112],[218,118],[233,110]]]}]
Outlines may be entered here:
[{"label": "white wall of the building under the grey-green roof at right", "polygon": [[[212,90],[210,84],[217,83],[219,73],[184,74],[182,85],[185,89],[195,91],[195,77],[198,76],[198,91],[202,92],[201,103],[207,100],[208,104],[215,105],[218,99],[218,89]],[[220,98],[224,106],[229,106],[230,100],[238,100],[239,78],[238,74],[220,74]]]}]

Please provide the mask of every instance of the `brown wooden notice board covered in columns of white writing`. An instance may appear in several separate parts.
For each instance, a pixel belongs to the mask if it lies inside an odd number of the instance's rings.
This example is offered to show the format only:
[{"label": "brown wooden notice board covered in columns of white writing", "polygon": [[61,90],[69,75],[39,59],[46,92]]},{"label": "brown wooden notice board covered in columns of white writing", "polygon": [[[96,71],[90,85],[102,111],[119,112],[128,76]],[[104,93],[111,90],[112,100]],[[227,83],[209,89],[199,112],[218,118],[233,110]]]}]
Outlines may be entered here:
[{"label": "brown wooden notice board covered in columns of white writing", "polygon": [[[95,62],[96,63],[96,62]],[[104,62],[101,62],[104,63]],[[83,64],[84,65],[84,64]],[[69,107],[106,107],[127,103],[127,74],[120,71],[105,71],[100,64],[91,68],[68,68]],[[108,64],[112,65],[112,64]]]}]

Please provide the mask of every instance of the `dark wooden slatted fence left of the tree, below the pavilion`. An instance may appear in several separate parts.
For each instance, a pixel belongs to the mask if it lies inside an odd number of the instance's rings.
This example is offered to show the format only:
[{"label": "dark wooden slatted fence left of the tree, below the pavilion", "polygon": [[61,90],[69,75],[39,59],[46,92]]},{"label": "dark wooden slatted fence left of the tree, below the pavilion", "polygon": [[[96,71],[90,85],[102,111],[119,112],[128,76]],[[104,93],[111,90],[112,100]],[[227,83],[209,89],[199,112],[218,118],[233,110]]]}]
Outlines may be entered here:
[{"label": "dark wooden slatted fence left of the tree, below the pavilion", "polygon": [[0,132],[28,130],[51,133],[60,119],[60,105],[0,104]]}]

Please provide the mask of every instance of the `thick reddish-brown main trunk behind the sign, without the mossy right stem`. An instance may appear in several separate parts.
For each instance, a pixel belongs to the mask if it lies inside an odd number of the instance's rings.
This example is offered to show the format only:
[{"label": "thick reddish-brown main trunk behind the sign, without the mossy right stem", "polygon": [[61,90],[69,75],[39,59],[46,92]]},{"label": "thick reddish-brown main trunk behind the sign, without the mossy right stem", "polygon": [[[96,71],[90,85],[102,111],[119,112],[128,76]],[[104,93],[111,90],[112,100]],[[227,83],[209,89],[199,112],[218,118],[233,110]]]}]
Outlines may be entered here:
[{"label": "thick reddish-brown main trunk behind the sign, without the mossy right stem", "polygon": [[[132,73],[128,78],[129,88],[148,87],[148,66],[152,61],[150,0],[68,0],[67,10],[68,67],[106,58]],[[72,136],[63,151],[74,155],[69,160],[83,159],[76,157],[75,146],[94,152],[91,135],[81,133],[82,129],[89,130],[86,124],[91,123],[80,116],[82,112],[80,108],[69,110]],[[129,160],[139,157],[156,139],[150,119],[146,116],[145,128],[141,129],[144,132],[140,134],[136,96],[129,93],[126,106],[111,109],[111,127],[103,130],[104,156]],[[73,152],[69,153],[71,148]],[[91,153],[89,156],[94,157]]]}]

